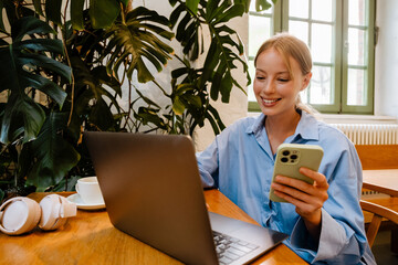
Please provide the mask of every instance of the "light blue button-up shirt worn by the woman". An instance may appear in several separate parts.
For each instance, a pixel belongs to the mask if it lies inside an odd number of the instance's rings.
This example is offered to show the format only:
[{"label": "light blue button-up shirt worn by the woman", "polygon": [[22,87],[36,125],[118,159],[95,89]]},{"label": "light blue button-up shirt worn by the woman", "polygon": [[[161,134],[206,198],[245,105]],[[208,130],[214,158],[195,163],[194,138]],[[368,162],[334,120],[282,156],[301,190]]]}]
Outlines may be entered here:
[{"label": "light blue button-up shirt worn by the woman", "polygon": [[284,141],[318,145],[324,149],[318,171],[326,176],[329,188],[316,244],[293,204],[270,201],[275,157],[264,121],[263,114],[240,119],[197,153],[203,187],[218,188],[263,226],[290,234],[284,244],[306,262],[376,264],[366,241],[359,205],[362,166],[353,142],[305,112],[294,135]]}]

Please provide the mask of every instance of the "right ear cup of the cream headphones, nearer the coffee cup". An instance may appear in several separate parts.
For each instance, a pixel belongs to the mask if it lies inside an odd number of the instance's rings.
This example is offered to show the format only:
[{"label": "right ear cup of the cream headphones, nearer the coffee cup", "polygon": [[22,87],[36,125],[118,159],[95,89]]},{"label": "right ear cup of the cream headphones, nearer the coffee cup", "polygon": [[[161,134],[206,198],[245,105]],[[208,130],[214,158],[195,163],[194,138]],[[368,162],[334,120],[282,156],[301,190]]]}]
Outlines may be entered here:
[{"label": "right ear cup of the cream headphones, nearer the coffee cup", "polygon": [[[42,230],[56,230],[66,223],[69,216],[76,215],[76,204],[57,194],[44,197],[40,201],[40,208],[42,216],[39,227]],[[72,214],[65,214],[65,208],[72,209]]]}]

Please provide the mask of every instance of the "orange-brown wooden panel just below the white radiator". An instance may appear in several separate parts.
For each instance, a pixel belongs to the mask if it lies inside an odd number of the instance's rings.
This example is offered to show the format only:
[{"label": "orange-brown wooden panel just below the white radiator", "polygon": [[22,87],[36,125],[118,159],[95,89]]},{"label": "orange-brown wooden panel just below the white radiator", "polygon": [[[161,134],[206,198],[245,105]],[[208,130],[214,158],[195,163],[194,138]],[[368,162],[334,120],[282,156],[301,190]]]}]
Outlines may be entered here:
[{"label": "orange-brown wooden panel just below the white radiator", "polygon": [[397,169],[398,145],[356,145],[363,169]]}]

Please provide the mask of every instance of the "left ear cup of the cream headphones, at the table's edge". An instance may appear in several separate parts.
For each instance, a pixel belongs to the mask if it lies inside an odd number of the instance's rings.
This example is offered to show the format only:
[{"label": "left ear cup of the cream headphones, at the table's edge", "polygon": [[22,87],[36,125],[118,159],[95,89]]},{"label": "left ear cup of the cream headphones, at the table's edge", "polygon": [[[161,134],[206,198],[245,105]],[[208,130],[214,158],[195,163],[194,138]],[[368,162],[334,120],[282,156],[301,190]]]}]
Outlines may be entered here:
[{"label": "left ear cup of the cream headphones, at the table's edge", "polygon": [[0,206],[0,231],[9,235],[19,235],[34,229],[41,218],[36,201],[15,197]]}]

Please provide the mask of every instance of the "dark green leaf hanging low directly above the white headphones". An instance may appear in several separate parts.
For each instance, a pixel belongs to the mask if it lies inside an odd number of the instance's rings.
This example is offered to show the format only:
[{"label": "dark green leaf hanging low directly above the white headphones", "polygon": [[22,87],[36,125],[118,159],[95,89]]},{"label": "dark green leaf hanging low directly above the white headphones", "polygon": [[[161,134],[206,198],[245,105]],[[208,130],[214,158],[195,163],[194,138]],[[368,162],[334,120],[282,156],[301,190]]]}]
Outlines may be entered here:
[{"label": "dark green leaf hanging low directly above the white headphones", "polygon": [[60,182],[80,160],[78,152],[61,135],[66,119],[66,113],[51,113],[38,138],[30,142],[35,162],[27,183],[38,191]]}]

